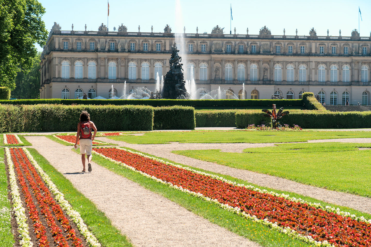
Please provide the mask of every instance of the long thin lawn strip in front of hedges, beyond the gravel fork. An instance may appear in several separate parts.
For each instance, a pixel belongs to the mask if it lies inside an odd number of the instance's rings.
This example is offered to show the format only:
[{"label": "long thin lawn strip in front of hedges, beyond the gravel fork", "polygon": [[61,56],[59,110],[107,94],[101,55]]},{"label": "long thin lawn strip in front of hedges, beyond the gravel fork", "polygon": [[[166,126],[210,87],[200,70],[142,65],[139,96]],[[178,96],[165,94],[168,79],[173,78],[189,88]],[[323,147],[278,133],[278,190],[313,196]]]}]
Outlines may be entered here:
[{"label": "long thin lawn strip in front of hedges, beyond the gravel fork", "polygon": [[301,142],[334,138],[370,138],[371,132],[362,131],[190,131],[149,132],[143,136],[107,136],[112,140],[132,144],[163,144],[171,141],[180,143],[277,143]]}]

